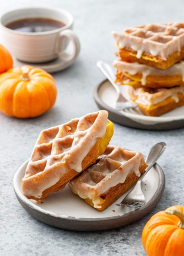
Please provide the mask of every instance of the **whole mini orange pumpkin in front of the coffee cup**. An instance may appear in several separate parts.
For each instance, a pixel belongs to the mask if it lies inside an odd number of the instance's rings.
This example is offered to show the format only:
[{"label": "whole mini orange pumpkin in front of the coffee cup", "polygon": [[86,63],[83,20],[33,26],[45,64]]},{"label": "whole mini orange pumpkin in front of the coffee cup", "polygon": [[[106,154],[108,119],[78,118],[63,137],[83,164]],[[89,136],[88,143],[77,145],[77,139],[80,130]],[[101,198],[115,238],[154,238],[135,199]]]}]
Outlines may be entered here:
[{"label": "whole mini orange pumpkin in front of the coffee cup", "polygon": [[8,116],[39,116],[52,108],[56,96],[54,78],[42,69],[22,66],[0,75],[0,111]]}]

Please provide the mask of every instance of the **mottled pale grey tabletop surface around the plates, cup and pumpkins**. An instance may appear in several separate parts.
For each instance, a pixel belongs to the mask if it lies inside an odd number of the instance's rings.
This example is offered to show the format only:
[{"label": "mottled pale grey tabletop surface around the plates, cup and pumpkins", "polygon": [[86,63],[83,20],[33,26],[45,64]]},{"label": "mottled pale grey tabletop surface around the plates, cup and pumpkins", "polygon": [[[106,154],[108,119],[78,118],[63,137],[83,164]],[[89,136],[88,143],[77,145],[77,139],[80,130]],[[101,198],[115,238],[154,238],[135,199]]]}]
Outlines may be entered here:
[{"label": "mottled pale grey tabletop surface around the plates, cup and pumpkins", "polygon": [[0,114],[0,254],[1,255],[146,255],[141,234],[148,219],[171,205],[183,205],[184,130],[142,131],[114,124],[114,144],[147,154],[151,145],[167,143],[158,163],[166,175],[166,188],[157,206],[144,218],[128,226],[101,232],[74,232],[43,224],[18,203],[13,176],[26,161],[42,129],[71,118],[97,111],[93,99],[96,84],[104,79],[96,67],[103,59],[111,63],[116,46],[111,31],[159,22],[183,22],[182,0],[7,0],[1,13],[18,7],[52,6],[70,11],[81,52],[74,65],[53,74],[58,97],[54,108],[44,115],[19,120]]}]

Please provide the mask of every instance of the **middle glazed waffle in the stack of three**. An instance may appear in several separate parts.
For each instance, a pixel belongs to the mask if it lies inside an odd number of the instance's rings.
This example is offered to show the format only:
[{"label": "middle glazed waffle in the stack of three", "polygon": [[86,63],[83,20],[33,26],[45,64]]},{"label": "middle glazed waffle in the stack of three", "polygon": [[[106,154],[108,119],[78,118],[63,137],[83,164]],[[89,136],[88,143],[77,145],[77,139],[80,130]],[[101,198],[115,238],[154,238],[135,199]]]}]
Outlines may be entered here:
[{"label": "middle glazed waffle in the stack of three", "polygon": [[117,68],[116,82],[122,85],[149,88],[184,86],[184,61],[182,60],[167,70],[121,60],[114,60],[113,66]]}]

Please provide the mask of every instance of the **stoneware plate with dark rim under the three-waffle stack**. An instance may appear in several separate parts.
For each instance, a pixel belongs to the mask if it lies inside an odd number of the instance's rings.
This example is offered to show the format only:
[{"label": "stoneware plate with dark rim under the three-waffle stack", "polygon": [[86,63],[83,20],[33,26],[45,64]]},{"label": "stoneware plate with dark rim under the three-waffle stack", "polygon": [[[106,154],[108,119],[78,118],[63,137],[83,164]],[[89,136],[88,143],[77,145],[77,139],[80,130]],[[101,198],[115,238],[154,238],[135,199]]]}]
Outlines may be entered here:
[{"label": "stoneware plate with dark rim under the three-waffle stack", "polygon": [[[120,87],[125,98],[129,99],[128,86]],[[127,113],[114,109],[116,90],[108,80],[102,81],[94,90],[94,99],[100,109],[109,112],[109,119],[125,126],[146,130],[171,130],[184,127],[184,106],[159,117],[139,113]]]}]

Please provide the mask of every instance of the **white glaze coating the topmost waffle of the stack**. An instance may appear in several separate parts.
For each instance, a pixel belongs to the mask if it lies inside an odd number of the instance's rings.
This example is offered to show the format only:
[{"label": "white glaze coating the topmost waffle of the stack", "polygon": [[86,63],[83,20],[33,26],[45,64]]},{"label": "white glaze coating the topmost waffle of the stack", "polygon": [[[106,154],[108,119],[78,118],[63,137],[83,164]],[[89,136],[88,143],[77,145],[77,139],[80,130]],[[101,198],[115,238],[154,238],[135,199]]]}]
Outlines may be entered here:
[{"label": "white glaze coating the topmost waffle of the stack", "polygon": [[[114,31],[112,34],[120,49],[136,51],[137,58],[141,58],[143,53],[148,53],[166,60],[174,52],[179,54],[181,47],[184,46],[184,33],[179,29],[179,25],[179,23],[148,24],[129,28],[125,34]],[[154,28],[155,32],[153,32]]]}]

